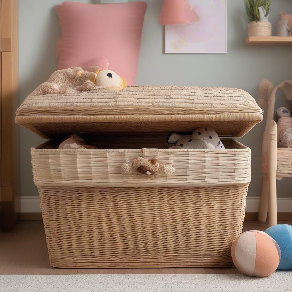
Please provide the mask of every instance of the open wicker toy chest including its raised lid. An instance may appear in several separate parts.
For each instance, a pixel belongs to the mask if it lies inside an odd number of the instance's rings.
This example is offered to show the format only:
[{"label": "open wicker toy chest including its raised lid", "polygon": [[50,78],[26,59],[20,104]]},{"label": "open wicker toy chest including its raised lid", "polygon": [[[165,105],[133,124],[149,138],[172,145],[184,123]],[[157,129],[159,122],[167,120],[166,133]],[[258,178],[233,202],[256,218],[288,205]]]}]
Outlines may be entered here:
[{"label": "open wicker toy chest including its raised lid", "polygon": [[[251,180],[251,151],[232,138],[262,119],[255,100],[233,88],[129,86],[29,96],[15,121],[51,138],[31,149],[51,265],[231,266]],[[169,134],[200,126],[226,137],[226,149],[166,149]],[[59,150],[70,133],[99,149]],[[156,157],[175,172],[121,173],[137,157]]]}]

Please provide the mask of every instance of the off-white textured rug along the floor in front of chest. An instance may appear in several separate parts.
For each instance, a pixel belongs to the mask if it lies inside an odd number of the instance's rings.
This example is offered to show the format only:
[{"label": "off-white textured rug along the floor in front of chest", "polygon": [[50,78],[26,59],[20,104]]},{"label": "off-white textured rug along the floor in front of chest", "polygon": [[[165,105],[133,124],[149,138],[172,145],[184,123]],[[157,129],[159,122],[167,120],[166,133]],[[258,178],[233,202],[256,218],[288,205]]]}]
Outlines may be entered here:
[{"label": "off-white textured rug along the floor in front of chest", "polygon": [[292,291],[292,272],[244,275],[0,275],[2,292]]}]

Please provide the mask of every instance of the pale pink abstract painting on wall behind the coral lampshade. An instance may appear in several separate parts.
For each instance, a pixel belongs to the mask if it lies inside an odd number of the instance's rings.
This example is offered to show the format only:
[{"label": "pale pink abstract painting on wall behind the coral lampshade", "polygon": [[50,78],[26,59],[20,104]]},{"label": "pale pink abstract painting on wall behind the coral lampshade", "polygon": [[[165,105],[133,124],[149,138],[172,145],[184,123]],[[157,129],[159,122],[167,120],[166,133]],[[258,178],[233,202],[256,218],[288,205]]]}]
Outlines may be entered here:
[{"label": "pale pink abstract painting on wall behind the coral lampshade", "polygon": [[188,0],[200,17],[165,26],[165,53],[227,53],[227,0]]}]

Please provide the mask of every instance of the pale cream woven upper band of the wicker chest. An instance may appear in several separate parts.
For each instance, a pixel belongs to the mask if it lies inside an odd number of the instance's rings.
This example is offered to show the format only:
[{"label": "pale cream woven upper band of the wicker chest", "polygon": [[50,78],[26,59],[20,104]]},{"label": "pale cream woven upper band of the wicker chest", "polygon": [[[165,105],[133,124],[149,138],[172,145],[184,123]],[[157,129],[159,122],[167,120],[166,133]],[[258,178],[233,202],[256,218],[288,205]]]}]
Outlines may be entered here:
[{"label": "pale cream woven upper band of the wicker chest", "polygon": [[[234,141],[235,149],[31,149],[37,186],[199,187],[246,185],[251,180],[250,149]],[[136,157],[173,166],[175,173],[151,177],[122,174],[121,165]]]}]

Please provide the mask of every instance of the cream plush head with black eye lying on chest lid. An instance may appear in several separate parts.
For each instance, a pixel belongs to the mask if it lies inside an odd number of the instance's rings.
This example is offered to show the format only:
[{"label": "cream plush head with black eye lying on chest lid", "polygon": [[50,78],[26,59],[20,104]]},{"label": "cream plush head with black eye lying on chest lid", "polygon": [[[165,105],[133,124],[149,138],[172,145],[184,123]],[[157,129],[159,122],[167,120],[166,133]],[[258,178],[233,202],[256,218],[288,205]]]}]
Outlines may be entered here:
[{"label": "cream plush head with black eye lying on chest lid", "polygon": [[127,87],[127,81],[112,70],[97,70],[96,74],[89,78],[96,86],[103,87]]}]

